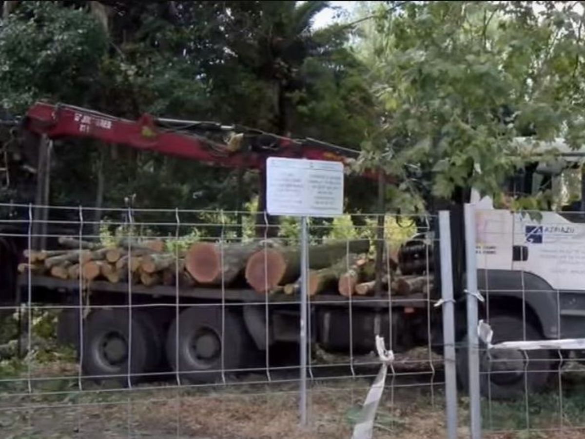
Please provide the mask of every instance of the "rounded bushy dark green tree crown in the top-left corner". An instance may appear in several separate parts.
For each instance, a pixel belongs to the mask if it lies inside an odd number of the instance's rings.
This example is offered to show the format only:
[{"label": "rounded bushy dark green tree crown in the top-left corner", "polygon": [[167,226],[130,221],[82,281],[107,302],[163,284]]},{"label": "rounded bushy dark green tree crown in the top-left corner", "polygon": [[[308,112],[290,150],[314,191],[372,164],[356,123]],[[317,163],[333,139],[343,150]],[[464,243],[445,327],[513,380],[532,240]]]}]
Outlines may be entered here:
[{"label": "rounded bushy dark green tree crown in the top-left corner", "polygon": [[23,2],[0,22],[0,105],[22,112],[42,98],[90,104],[106,49],[102,28],[84,11]]}]

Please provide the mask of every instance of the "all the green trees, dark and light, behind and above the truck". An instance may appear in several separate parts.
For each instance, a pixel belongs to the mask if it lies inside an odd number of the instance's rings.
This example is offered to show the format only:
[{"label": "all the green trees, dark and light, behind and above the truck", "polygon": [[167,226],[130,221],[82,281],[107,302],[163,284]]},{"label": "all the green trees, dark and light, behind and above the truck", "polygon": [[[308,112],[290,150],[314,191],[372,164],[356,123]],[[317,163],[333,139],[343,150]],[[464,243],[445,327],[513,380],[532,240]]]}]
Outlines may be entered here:
[{"label": "all the green trees, dark and light, behind and above the truck", "polygon": [[[328,2],[1,3],[0,114],[50,100],[318,138],[394,176],[405,212],[472,186],[497,196],[518,136],[584,139],[577,3],[358,2],[322,29]],[[62,140],[55,156],[55,203],[238,208],[258,192],[250,175],[114,145]],[[373,210],[363,185],[349,210]]]}]

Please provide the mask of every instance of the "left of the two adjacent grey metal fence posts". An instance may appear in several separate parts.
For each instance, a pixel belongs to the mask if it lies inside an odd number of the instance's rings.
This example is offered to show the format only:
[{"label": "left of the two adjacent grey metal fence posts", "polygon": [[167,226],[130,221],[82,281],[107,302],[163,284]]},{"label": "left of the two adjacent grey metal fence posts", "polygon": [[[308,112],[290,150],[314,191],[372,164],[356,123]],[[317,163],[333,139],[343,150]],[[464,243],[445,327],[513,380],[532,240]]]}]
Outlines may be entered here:
[{"label": "left of the two adjacent grey metal fence posts", "polygon": [[457,372],[455,361],[455,303],[449,211],[439,212],[441,251],[441,301],[443,304],[443,356],[445,359],[445,405],[448,439],[457,439]]}]

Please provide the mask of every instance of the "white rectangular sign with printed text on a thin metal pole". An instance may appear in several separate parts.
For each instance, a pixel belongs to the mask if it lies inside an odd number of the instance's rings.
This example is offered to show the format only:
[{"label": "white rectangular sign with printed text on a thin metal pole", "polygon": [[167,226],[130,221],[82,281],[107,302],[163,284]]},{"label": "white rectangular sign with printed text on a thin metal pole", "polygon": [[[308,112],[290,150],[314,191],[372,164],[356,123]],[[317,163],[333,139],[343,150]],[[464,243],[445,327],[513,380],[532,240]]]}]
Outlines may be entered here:
[{"label": "white rectangular sign with printed text on a thin metal pole", "polygon": [[269,157],[266,160],[266,208],[270,215],[341,215],[343,163]]}]

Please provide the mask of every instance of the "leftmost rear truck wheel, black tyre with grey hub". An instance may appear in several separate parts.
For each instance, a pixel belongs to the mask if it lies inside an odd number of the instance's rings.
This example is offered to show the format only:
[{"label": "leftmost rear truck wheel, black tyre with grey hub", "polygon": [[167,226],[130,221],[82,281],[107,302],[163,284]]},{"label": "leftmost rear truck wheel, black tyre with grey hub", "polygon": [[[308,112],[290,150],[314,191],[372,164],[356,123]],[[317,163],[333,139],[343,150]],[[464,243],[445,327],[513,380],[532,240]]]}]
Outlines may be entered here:
[{"label": "leftmost rear truck wheel, black tyre with grey hub", "polygon": [[[128,311],[101,309],[92,311],[84,322],[81,367],[85,375],[97,382],[114,382],[125,386],[137,383],[150,372],[156,361],[156,342],[143,314],[133,312],[132,349],[128,355]],[[158,352],[161,351],[159,347]],[[160,359],[160,354],[159,354]],[[111,376],[112,378],[109,378]]]}]

